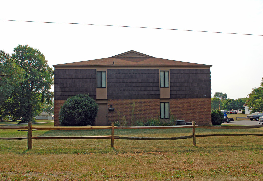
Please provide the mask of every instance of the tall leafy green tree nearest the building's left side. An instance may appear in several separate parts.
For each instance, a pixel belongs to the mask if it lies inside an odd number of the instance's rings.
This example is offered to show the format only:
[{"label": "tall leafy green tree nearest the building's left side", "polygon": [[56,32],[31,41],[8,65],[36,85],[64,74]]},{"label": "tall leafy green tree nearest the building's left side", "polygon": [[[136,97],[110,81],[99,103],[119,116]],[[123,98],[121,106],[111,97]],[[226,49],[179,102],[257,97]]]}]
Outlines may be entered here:
[{"label": "tall leafy green tree nearest the building's left side", "polygon": [[19,67],[25,70],[26,75],[25,80],[14,88],[7,107],[14,117],[22,118],[22,123],[34,122],[34,117],[43,110],[44,100],[49,102],[53,98],[53,93],[49,91],[54,83],[52,68],[48,66],[48,61],[38,49],[28,45],[18,45],[14,48],[12,57],[20,61]]}]

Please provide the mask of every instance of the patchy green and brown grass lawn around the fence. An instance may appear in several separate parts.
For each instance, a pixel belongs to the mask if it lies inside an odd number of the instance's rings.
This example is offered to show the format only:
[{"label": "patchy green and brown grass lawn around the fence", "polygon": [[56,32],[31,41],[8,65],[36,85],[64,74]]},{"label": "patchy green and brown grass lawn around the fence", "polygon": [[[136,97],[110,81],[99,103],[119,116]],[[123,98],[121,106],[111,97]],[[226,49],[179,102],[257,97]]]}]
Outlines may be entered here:
[{"label": "patchy green and brown grass lawn around the fence", "polygon": [[[39,124],[50,126],[53,123]],[[37,124],[38,125],[38,124]],[[196,134],[263,133],[196,129]],[[37,130],[33,136],[110,135],[111,130]],[[114,130],[114,135],[176,137],[192,129]],[[0,130],[0,137],[26,137]],[[0,140],[0,180],[263,180],[263,137],[182,140]]]}]

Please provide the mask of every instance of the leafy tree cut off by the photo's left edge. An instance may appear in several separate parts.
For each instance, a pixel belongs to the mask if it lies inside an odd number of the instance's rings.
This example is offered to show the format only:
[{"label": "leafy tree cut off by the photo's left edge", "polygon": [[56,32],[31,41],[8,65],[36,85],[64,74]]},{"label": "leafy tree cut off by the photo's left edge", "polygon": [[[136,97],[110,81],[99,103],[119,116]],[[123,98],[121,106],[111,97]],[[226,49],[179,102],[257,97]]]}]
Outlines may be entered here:
[{"label": "leafy tree cut off by the photo's left edge", "polygon": [[0,53],[0,122],[10,116],[6,109],[6,102],[12,95],[14,88],[24,80],[24,69],[8,59],[9,54]]}]

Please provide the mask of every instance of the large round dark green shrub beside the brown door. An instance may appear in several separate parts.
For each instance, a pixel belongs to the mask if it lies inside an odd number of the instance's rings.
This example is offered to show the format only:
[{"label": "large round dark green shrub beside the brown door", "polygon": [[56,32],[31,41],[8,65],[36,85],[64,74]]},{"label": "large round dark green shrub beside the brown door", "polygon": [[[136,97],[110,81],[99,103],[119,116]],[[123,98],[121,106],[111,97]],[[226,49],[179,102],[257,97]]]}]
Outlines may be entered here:
[{"label": "large round dark green shrub beside the brown door", "polygon": [[95,120],[98,109],[98,104],[87,94],[70,96],[60,108],[59,123],[62,126],[86,126]]}]

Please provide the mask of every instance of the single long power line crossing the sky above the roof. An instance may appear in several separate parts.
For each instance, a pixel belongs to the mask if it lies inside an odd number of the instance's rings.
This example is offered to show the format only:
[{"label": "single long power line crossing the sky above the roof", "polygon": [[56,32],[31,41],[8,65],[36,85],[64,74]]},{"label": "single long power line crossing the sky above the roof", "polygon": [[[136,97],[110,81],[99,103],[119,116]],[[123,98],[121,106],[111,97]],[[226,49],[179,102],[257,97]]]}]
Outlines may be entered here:
[{"label": "single long power line crossing the sky above the roof", "polygon": [[44,21],[20,21],[20,20],[8,20],[8,19],[0,19],[0,20],[1,20],[1,21],[33,22],[33,23],[83,24],[83,25],[95,25],[95,26],[115,26],[115,27],[127,27],[127,28],[166,29],[166,30],[178,30],[178,31],[195,31],[195,32],[208,32],[208,33],[225,33],[225,34],[242,34],[242,35],[255,35],[255,36],[263,36],[263,35],[261,35],[261,34],[226,33],[226,32],[214,32],[214,31],[198,31],[198,30],[187,30],[187,29],[151,28],[151,27],[140,27],[140,26],[119,26],[119,25],[106,25],[106,24],[62,23],[62,22],[44,22]]}]

